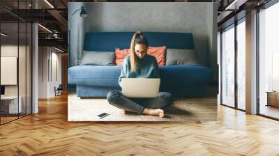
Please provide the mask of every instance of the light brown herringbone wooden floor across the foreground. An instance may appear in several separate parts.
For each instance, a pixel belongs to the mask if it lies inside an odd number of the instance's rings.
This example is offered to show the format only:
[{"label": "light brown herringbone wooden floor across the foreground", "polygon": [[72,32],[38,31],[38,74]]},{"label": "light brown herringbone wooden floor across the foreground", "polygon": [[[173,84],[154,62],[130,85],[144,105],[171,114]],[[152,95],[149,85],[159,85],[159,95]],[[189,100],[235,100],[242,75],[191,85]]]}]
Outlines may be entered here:
[{"label": "light brown herringbone wooden floor across the foreground", "polygon": [[279,155],[279,122],[218,106],[218,121],[68,123],[66,95],[0,126],[0,155]]}]

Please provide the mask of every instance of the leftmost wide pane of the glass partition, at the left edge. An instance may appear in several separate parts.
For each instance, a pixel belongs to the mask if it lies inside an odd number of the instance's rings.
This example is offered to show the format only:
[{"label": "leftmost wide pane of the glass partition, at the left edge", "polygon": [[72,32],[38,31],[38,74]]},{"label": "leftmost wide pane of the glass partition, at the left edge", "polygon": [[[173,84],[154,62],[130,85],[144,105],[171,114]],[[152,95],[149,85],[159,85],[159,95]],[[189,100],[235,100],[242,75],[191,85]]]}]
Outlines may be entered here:
[{"label": "leftmost wide pane of the glass partition, at the left edge", "polygon": [[[1,23],[1,123],[18,118],[18,23]],[[3,36],[3,34],[5,34]]]}]

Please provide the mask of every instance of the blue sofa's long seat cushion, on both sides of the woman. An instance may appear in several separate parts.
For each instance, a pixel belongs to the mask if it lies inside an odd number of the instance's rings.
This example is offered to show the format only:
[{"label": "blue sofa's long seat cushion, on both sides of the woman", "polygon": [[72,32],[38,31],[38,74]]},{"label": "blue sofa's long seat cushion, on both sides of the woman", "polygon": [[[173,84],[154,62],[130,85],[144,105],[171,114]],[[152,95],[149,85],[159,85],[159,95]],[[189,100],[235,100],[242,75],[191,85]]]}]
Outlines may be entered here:
[{"label": "blue sofa's long seat cushion, on both sides of the woman", "polygon": [[[212,77],[212,70],[201,65],[165,65],[159,69],[163,88],[204,85]],[[121,66],[79,65],[68,69],[68,83],[120,88],[120,73]]]}]

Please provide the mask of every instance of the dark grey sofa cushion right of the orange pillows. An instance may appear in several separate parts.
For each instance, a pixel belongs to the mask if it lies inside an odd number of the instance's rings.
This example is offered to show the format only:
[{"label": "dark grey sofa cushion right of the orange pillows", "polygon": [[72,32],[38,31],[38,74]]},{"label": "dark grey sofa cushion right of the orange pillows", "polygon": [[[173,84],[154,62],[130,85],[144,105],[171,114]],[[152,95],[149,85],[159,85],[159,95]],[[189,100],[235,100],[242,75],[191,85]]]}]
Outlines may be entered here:
[{"label": "dark grey sofa cushion right of the orange pillows", "polygon": [[166,65],[200,65],[194,49],[167,49]]}]

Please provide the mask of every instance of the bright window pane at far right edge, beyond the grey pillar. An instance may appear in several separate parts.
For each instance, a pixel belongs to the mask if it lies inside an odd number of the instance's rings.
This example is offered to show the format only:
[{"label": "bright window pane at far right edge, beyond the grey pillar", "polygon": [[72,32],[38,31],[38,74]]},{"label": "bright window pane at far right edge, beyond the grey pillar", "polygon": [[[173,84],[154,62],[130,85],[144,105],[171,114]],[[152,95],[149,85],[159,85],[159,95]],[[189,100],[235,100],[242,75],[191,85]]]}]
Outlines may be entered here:
[{"label": "bright window pane at far right edge, beyond the grey pillar", "polygon": [[279,118],[279,93],[267,92],[279,91],[278,15],[279,3],[259,13],[259,114],[273,118]]}]

